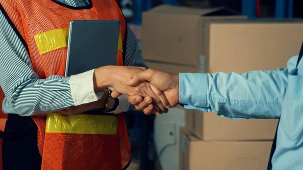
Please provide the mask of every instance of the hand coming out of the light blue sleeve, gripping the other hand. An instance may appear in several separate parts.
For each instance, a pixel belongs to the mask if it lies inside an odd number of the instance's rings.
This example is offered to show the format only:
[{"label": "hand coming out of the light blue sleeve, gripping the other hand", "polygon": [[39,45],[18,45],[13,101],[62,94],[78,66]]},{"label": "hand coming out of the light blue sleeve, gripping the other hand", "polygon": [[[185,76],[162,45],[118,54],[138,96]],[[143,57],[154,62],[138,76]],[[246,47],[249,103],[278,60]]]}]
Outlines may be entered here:
[{"label": "hand coming out of the light blue sleeve, gripping the other hand", "polygon": [[[168,101],[168,107],[174,107],[179,104],[179,76],[167,72],[148,69],[141,72],[136,72],[128,80],[127,85],[136,86],[139,83],[148,81],[150,88],[155,90],[157,96],[164,95]],[[151,114],[151,110],[146,107],[145,101],[138,102],[133,96],[128,97],[128,101],[134,104],[136,109],[144,110],[146,115]],[[147,105],[149,106],[149,105]]]}]

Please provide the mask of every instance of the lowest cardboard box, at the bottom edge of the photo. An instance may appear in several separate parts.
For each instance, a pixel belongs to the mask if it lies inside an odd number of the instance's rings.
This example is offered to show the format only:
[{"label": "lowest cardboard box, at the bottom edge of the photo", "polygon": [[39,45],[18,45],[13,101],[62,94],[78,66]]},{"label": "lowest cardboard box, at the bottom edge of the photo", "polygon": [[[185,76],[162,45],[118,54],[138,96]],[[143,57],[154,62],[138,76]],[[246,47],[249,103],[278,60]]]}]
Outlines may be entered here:
[{"label": "lowest cardboard box, at the bottom edge of the photo", "polygon": [[264,170],[272,141],[201,141],[180,130],[180,170]]}]

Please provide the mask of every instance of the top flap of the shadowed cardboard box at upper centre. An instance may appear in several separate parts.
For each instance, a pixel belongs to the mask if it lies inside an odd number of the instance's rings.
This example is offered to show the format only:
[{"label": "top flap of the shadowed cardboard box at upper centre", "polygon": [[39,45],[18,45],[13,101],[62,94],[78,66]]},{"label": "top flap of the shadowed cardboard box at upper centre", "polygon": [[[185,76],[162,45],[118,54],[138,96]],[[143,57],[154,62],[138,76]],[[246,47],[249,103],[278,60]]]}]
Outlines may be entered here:
[{"label": "top flap of the shadowed cardboard box at upper centre", "polygon": [[231,9],[221,7],[221,8],[188,8],[188,7],[177,7],[161,5],[156,8],[151,9],[151,13],[161,13],[161,14],[174,14],[174,15],[192,15],[192,16],[230,16],[230,15],[241,15],[236,11]]}]

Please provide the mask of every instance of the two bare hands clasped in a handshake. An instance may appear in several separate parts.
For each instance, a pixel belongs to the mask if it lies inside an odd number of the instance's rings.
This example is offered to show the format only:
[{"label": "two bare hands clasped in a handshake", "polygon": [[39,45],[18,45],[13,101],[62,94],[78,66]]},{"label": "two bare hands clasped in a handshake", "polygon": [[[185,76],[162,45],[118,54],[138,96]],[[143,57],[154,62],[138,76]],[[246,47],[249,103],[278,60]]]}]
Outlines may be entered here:
[{"label": "two bare hands clasped in a handshake", "polygon": [[141,67],[106,66],[95,70],[94,79],[94,87],[115,88],[112,97],[128,95],[128,102],[146,115],[160,115],[179,104],[178,75]]}]

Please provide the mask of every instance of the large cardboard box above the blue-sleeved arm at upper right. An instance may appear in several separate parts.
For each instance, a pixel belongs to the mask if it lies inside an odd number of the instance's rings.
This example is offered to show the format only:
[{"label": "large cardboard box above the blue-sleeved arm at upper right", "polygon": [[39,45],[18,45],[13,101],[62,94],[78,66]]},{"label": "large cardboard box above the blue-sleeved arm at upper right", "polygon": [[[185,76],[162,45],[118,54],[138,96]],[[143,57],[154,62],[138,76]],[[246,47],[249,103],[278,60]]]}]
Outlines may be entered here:
[{"label": "large cardboard box above the blue-sleeved arm at upper right", "polygon": [[285,68],[298,55],[303,20],[204,22],[205,71],[244,73]]}]

